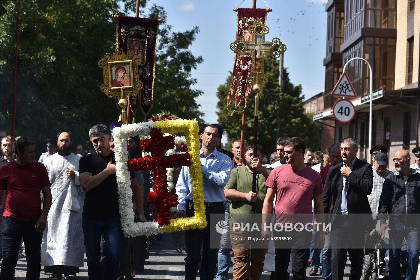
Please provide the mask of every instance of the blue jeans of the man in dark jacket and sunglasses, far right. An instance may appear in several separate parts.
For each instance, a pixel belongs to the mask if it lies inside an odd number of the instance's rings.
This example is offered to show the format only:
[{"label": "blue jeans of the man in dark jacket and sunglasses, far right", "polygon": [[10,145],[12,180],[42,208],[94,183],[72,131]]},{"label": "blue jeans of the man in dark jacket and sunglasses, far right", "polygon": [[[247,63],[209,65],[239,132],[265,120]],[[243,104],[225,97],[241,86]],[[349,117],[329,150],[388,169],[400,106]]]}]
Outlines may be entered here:
[{"label": "blue jeans of the man in dark jacket and sunglasses, far right", "polygon": [[405,275],[406,280],[415,280],[417,274],[417,267],[419,263],[419,228],[417,225],[407,225],[400,221],[393,221],[390,219],[389,228],[389,279],[399,279],[400,269],[399,260],[402,248],[402,241],[405,237],[407,241],[407,274]]}]

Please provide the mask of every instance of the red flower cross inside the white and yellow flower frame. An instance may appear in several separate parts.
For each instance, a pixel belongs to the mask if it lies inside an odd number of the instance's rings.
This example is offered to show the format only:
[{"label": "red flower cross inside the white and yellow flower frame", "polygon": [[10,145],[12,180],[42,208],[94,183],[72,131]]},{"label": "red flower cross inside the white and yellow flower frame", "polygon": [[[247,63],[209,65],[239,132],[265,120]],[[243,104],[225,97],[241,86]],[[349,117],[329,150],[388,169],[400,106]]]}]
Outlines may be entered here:
[{"label": "red flower cross inside the white and yellow flower frame", "polygon": [[163,136],[160,128],[152,128],[150,139],[140,141],[143,152],[149,152],[152,157],[133,158],[128,161],[129,171],[154,170],[153,192],[147,195],[147,202],[157,209],[159,226],[168,225],[171,220],[170,208],[178,205],[178,195],[168,191],[166,169],[176,166],[190,166],[189,153],[165,156],[165,150],[173,149],[173,136]]}]

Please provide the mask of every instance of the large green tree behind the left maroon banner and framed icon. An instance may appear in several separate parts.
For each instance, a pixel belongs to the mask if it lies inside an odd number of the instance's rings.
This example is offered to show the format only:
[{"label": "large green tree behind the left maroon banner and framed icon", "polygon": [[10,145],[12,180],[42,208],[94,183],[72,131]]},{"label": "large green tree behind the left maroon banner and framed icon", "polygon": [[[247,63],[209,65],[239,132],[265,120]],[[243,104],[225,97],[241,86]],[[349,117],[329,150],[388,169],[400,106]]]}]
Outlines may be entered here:
[{"label": "large green tree behind the left maroon banner and framed icon", "polygon": [[[146,1],[142,1],[142,5]],[[121,4],[121,5],[120,5]],[[22,1],[18,57],[17,113],[15,135],[38,143],[37,156],[45,151],[44,139],[68,130],[76,144],[88,144],[93,124],[118,120],[115,101],[103,94],[98,61],[115,51],[116,20],[111,15],[125,2],[117,0]],[[125,5],[126,6],[126,5]],[[135,5],[131,6],[134,7]],[[142,17],[166,19],[162,7],[152,6]],[[17,1],[6,0],[0,8],[0,130],[11,133],[13,72],[16,48]],[[197,118],[195,98],[202,91],[192,88],[190,71],[202,62],[189,47],[198,29],[173,32],[160,24],[156,55],[152,114],[171,111],[181,118]],[[139,109],[136,121],[144,116]]]}]

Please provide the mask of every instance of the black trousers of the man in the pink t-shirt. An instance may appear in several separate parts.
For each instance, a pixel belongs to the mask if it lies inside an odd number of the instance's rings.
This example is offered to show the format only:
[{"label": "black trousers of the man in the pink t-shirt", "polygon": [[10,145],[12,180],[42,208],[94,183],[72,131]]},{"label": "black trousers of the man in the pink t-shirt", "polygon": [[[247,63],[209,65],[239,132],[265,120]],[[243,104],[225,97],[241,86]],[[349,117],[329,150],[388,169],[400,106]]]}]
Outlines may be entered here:
[{"label": "black trousers of the man in the pink t-shirt", "polygon": [[281,234],[275,232],[274,236],[291,237],[291,241],[275,241],[276,258],[274,260],[276,280],[289,279],[287,267],[289,267],[290,254],[292,259],[292,279],[306,279],[306,267],[308,264],[312,233],[310,231],[283,232]]}]

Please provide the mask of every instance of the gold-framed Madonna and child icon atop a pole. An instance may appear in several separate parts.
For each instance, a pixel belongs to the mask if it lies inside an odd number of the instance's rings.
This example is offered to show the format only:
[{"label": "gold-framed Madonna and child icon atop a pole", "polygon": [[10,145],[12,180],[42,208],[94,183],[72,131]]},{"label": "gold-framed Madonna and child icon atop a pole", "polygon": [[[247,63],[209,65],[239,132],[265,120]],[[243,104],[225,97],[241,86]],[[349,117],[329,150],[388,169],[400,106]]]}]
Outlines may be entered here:
[{"label": "gold-framed Madonna and child icon atop a pole", "polygon": [[115,101],[118,101],[123,124],[126,123],[129,96],[136,96],[143,88],[143,83],[139,79],[140,63],[142,59],[134,52],[125,53],[121,48],[115,49],[114,54],[106,53],[98,62],[104,77],[100,90],[109,98],[115,97]]}]

